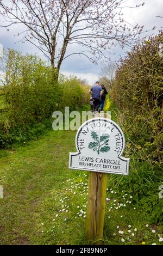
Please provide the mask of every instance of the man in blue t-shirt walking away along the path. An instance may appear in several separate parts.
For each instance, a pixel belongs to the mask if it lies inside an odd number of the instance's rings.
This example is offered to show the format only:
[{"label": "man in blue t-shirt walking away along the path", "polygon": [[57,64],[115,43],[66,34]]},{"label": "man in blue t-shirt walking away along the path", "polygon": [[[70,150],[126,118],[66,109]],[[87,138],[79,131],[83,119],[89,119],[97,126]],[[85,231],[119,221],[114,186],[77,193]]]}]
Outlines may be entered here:
[{"label": "man in blue t-shirt walking away along the path", "polygon": [[94,105],[94,111],[98,111],[98,108],[101,103],[101,96],[103,94],[102,87],[99,86],[99,82],[97,81],[95,86],[92,86],[89,90],[90,94],[93,97],[93,105]]}]

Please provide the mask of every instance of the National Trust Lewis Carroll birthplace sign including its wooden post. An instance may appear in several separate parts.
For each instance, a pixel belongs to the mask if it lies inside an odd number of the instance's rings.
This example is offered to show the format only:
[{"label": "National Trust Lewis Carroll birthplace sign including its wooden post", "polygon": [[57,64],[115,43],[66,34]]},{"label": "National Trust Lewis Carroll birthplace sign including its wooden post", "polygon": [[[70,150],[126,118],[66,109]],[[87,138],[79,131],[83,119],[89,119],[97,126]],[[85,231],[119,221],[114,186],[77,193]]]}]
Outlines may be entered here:
[{"label": "National Trust Lewis Carroll birthplace sign including its wooden post", "polygon": [[107,174],[128,175],[129,159],[122,157],[125,139],[121,128],[107,118],[86,121],[76,135],[77,153],[70,153],[69,168],[90,170],[87,198],[87,239],[103,239]]}]

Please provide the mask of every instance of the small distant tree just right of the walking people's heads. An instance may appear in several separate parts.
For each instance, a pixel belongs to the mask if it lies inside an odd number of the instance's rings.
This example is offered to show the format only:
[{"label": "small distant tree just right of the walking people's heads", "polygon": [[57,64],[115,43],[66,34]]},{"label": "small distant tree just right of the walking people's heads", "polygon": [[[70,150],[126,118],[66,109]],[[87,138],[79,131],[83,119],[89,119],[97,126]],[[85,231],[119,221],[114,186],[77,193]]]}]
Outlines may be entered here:
[{"label": "small distant tree just right of the walking people's heads", "polygon": [[108,64],[102,66],[99,74],[99,82],[104,84],[106,89],[109,91],[112,89],[114,84],[115,72],[117,69],[116,62],[109,62]]}]

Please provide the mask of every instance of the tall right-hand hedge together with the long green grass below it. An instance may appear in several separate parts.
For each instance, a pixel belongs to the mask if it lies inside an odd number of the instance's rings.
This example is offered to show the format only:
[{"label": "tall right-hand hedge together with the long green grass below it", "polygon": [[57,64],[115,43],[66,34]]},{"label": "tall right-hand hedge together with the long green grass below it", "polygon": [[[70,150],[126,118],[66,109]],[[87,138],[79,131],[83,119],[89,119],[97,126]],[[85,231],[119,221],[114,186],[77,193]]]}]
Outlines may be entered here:
[{"label": "tall right-hand hedge together with the long green grass below it", "polygon": [[142,42],[121,59],[111,91],[113,117],[126,137],[129,176],[111,175],[110,184],[133,192],[135,205],[151,223],[162,221],[163,32]]}]

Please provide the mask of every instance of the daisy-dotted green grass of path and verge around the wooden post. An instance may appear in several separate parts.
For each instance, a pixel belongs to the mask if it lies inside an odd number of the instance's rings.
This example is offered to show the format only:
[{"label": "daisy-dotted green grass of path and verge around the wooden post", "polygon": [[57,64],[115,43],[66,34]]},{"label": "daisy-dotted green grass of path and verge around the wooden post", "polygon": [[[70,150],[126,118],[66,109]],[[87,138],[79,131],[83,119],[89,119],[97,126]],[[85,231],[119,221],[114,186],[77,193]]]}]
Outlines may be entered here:
[{"label": "daisy-dotted green grass of path and verge around the wooden post", "polygon": [[[85,240],[89,172],[68,169],[69,152],[76,151],[75,136],[76,131],[47,131],[22,147],[0,151],[0,185],[4,188],[4,198],[0,199],[1,245],[89,244]],[[136,175],[140,168],[142,165],[131,161],[131,173]],[[103,243],[161,244],[161,225],[148,222],[149,216],[135,202],[133,190],[121,190],[122,180],[124,186],[131,179],[115,178],[108,175],[106,198],[110,200],[106,200]]]}]

